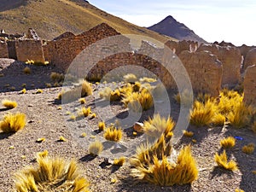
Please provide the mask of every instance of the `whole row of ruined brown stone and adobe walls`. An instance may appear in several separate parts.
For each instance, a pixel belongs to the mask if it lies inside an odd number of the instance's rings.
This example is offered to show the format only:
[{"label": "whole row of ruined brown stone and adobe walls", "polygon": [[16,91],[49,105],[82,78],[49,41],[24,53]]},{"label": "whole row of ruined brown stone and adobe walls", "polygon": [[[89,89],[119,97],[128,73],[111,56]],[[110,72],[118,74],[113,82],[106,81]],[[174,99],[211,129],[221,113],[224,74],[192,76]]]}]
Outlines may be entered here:
[{"label": "whole row of ruined brown stone and adobe walls", "polygon": [[[120,36],[120,33],[105,23],[79,35],[65,32],[52,41],[43,41],[32,29],[29,29],[27,34],[23,35],[9,35],[1,32],[0,57],[13,58],[19,61],[49,61],[55,67],[67,71],[73,59],[82,50],[101,39],[117,35]],[[106,45],[97,47],[95,52],[90,53],[84,59],[85,63],[96,62],[96,65],[88,73],[90,79],[95,77],[100,79],[116,67],[136,65],[145,67],[160,77],[166,87],[176,89],[176,82],[170,77],[165,68],[165,65],[175,65],[175,63],[161,65],[165,62],[165,49],[169,48],[182,61],[195,92],[218,96],[218,91],[222,88],[234,88],[237,84],[243,83],[245,101],[255,104],[254,79],[256,67],[253,66],[256,65],[255,47],[247,45],[236,47],[225,42],[198,44],[193,41],[167,41],[165,48],[157,48],[154,44],[143,41],[140,49],[135,50],[131,47],[129,38],[121,37],[111,47]],[[128,51],[116,53],[117,49]],[[146,52],[153,55],[145,54]],[[99,61],[94,60],[99,55],[110,56],[106,56]],[[159,61],[153,59],[155,55],[160,58]],[[83,71],[79,67],[77,73]],[[172,75],[178,73],[174,70]]]}]

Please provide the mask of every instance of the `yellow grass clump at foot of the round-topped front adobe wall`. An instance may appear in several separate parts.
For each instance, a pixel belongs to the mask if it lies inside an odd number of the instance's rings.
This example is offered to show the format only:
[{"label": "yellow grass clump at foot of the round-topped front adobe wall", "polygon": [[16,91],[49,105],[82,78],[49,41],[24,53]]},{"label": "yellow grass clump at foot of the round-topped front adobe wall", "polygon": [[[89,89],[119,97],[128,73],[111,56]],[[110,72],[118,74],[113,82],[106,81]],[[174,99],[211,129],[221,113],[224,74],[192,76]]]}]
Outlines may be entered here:
[{"label": "yellow grass clump at foot of the round-topped front adobe wall", "polygon": [[196,126],[209,125],[215,115],[214,103],[195,101],[193,110],[190,111],[190,123]]}]

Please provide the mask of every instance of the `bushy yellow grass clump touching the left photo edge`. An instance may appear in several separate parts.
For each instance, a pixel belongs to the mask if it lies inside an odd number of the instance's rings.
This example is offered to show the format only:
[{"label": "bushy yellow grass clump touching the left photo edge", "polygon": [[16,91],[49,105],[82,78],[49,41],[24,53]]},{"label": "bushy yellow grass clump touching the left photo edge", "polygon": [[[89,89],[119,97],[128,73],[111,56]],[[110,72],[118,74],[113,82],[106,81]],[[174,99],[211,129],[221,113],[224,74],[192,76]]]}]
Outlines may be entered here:
[{"label": "bushy yellow grass clump touching the left photo edge", "polygon": [[8,113],[0,121],[0,129],[3,132],[17,132],[26,125],[26,114],[24,113]]}]

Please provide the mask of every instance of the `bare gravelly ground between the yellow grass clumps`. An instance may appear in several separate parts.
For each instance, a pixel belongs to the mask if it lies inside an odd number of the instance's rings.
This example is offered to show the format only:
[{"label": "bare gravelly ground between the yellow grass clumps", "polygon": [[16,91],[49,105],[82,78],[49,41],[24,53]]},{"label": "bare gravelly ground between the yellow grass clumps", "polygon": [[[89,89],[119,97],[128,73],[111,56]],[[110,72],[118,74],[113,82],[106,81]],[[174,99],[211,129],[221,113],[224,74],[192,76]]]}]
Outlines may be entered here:
[{"label": "bare gravelly ground between the yellow grass clumps", "polygon": [[[0,119],[5,113],[15,113],[20,111],[26,113],[27,124],[22,131],[13,135],[0,132],[0,191],[14,191],[13,174],[22,167],[35,165],[35,154],[47,149],[50,156],[61,156],[65,159],[78,160],[80,170],[84,177],[90,181],[90,191],[235,191],[243,189],[247,192],[256,191],[256,152],[244,154],[241,152],[243,145],[255,143],[255,135],[248,128],[236,130],[229,125],[226,127],[200,127],[196,128],[189,125],[189,131],[194,131],[192,142],[191,138],[182,137],[174,145],[176,150],[183,145],[191,143],[192,153],[195,156],[199,168],[199,177],[191,185],[160,187],[150,183],[134,180],[130,176],[129,161],[118,168],[106,163],[104,156],[91,158],[86,148],[89,141],[97,137],[102,137],[102,133],[97,131],[97,124],[102,119],[99,115],[95,119],[85,118],[77,121],[70,121],[67,110],[76,113],[77,108],[81,108],[78,101],[72,104],[63,104],[55,100],[61,87],[46,88],[45,83],[52,83],[49,74],[57,71],[55,67],[31,67],[32,73],[26,75],[22,72],[26,67],[24,63],[12,60],[0,61],[0,101],[3,99],[15,100],[18,107],[6,110],[0,107]],[[9,84],[7,86],[6,84]],[[20,94],[21,84],[26,84],[26,94]],[[15,90],[10,87],[15,86]],[[98,90],[102,84],[94,84]],[[44,92],[35,94],[40,88]],[[95,91],[96,94],[96,91]],[[170,93],[172,95],[173,93]],[[87,96],[84,107],[91,107],[92,112],[96,112],[95,96]],[[174,119],[179,112],[179,106],[172,101],[172,113]],[[62,109],[58,108],[62,106]],[[125,118],[127,113],[119,103],[112,103],[111,111],[119,118]],[[96,112],[97,113],[97,112]],[[107,112],[108,113],[108,112]],[[147,112],[144,115],[151,114]],[[86,131],[86,137],[79,137],[79,131]],[[131,137],[132,128],[125,131],[124,142],[137,145],[137,139]],[[67,142],[58,142],[59,137],[67,138]],[[214,154],[221,151],[219,141],[224,137],[242,137],[236,141],[236,147],[228,150],[228,156],[236,160],[239,170],[236,172],[226,171],[218,168],[214,162]],[[43,143],[36,143],[39,137],[45,137]],[[95,138],[96,137],[96,138]],[[14,146],[14,148],[10,148]],[[135,147],[134,147],[135,149]],[[23,158],[21,157],[22,155]],[[112,154],[114,156],[114,154]],[[26,158],[24,158],[26,157]],[[112,179],[116,179],[112,183]]]}]

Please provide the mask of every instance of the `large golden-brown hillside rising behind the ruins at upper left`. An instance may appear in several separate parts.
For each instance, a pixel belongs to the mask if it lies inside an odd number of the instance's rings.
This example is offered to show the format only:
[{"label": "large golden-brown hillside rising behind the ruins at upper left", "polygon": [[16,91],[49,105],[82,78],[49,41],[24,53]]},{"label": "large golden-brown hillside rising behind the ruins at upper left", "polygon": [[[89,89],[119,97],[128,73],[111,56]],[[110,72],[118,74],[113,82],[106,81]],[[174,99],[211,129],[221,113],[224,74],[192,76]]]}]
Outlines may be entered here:
[{"label": "large golden-brown hillside rising behind the ruins at upper left", "polygon": [[102,22],[123,34],[144,35],[161,42],[173,39],[109,15],[84,0],[1,1],[0,29],[9,33],[26,32],[32,27],[40,37],[52,39],[67,31],[87,31]]}]

